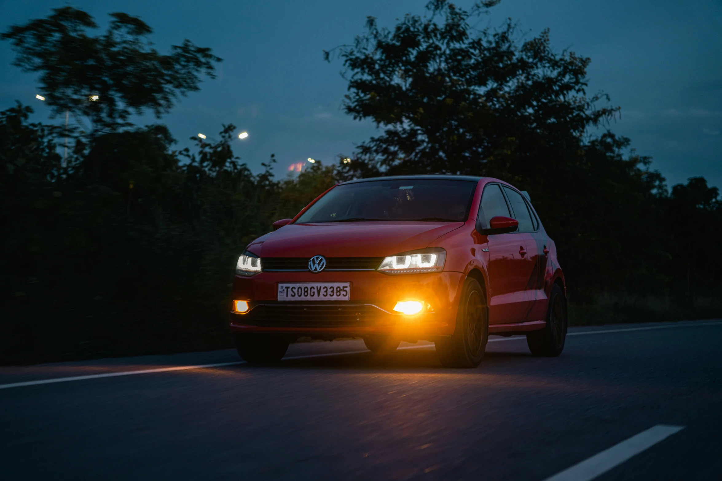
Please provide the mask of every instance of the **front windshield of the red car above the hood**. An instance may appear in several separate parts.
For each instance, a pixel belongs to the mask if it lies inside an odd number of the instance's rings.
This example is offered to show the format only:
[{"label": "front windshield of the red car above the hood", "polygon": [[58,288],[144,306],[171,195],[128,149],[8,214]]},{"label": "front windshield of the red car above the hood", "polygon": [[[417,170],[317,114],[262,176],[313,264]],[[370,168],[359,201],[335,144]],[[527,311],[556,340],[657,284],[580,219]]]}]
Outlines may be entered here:
[{"label": "front windshield of the red car above the hood", "polygon": [[375,180],[339,185],[313,204],[296,224],[352,221],[449,221],[469,217],[477,182]]}]

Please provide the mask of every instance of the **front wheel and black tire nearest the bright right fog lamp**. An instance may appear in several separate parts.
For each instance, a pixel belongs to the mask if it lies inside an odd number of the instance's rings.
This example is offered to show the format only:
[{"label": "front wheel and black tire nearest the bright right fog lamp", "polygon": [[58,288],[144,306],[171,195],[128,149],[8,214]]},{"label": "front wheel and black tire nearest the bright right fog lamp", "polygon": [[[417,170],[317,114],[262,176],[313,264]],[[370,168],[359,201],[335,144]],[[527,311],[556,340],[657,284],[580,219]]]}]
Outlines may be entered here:
[{"label": "front wheel and black tire nearest the bright right fog lamp", "polygon": [[489,310],[482,286],[467,278],[456,314],[456,328],[450,337],[435,341],[441,364],[453,368],[475,368],[484,358],[489,340]]}]

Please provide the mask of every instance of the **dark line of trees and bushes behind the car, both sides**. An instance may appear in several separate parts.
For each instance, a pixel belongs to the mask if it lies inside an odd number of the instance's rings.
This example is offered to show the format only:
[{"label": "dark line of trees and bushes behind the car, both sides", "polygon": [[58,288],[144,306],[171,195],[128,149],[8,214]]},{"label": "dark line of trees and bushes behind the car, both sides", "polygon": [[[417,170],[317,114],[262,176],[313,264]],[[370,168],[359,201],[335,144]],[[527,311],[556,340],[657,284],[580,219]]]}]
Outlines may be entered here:
[{"label": "dark line of trees and bushes behind the car, both sides", "polygon": [[586,95],[588,58],[554,53],[547,32],[523,40],[510,22],[471,27],[496,3],[466,12],[435,0],[393,30],[370,19],[327,53],[349,79],[344,108],[379,135],[351,162],[281,180],[273,156],[254,175],[233,154],[233,125],[177,150],[164,125],[129,122],[212,77],[220,59],[208,48],[185,40],[162,55],[126,14],[91,36],[93,19],[71,7],[9,28],[15,65],[38,72],[53,112],[74,122],[30,123],[20,104],[0,112],[0,361],[225,346],[245,244],[336,182],[397,173],[529,190],[557,242],[573,322],[720,314],[717,188],[695,177],[669,190],[651,159],[630,153],[609,130],[618,109]]}]

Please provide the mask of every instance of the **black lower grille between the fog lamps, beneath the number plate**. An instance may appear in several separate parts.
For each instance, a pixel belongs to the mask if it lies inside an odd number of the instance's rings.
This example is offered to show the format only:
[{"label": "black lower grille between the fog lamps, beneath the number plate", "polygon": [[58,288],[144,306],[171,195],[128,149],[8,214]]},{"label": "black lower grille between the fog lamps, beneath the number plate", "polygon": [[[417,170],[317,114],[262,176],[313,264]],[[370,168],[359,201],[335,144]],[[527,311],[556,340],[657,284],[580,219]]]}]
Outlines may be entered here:
[{"label": "black lower grille between the fog lamps, beneath the number plate", "polygon": [[368,327],[393,325],[398,317],[357,304],[259,304],[238,320],[263,327]]}]

